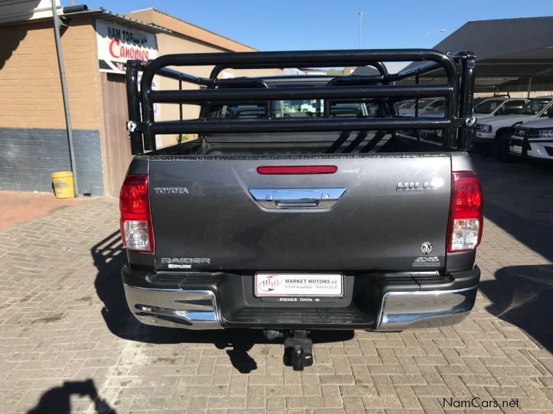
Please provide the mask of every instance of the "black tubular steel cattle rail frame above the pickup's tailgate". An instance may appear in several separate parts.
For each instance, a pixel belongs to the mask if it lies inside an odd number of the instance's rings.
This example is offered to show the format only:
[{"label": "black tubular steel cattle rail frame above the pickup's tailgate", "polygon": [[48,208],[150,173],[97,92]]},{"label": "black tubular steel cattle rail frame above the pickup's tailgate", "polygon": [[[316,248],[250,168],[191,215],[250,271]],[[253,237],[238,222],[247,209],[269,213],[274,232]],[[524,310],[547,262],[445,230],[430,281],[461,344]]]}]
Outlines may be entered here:
[{"label": "black tubular steel cattle rail frame above the pickup's tailgate", "polygon": [[[409,70],[389,74],[383,61],[420,61]],[[325,132],[355,130],[442,130],[445,148],[468,150],[472,95],[474,91],[473,52],[444,53],[430,49],[326,50],[299,52],[228,52],[164,55],[152,61],[128,61],[126,88],[133,154],[156,150],[156,135],[225,132]],[[167,66],[214,66],[209,78],[196,77]],[[258,78],[218,79],[225,69],[301,68],[329,66],[373,66],[379,75],[330,77],[326,86],[268,88]],[[443,69],[447,83],[420,85],[420,75]],[[140,90],[138,74],[142,71]],[[179,90],[152,90],[155,75],[179,81]],[[308,79],[310,75],[295,76]],[[397,81],[415,78],[415,85],[397,85]],[[182,82],[205,86],[200,90],[182,90]],[[375,84],[376,83],[376,84]],[[419,99],[445,97],[443,117],[332,118],[325,104],[324,117],[306,119],[270,119],[271,99]],[[205,111],[199,119],[183,120],[182,104],[205,106],[212,102],[265,101],[265,119],[209,120]],[[178,103],[180,119],[155,121],[154,103]]]}]

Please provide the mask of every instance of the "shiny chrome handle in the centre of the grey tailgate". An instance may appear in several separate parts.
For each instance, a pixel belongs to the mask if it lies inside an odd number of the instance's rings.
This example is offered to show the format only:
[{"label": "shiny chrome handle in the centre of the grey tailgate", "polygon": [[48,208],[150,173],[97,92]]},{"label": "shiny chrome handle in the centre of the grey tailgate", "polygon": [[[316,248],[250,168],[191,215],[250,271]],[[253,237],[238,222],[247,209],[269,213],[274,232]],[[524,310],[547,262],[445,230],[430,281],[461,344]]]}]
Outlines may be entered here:
[{"label": "shiny chrome handle in the centre of the grey tailgate", "polygon": [[330,208],[346,188],[249,188],[264,208]]}]

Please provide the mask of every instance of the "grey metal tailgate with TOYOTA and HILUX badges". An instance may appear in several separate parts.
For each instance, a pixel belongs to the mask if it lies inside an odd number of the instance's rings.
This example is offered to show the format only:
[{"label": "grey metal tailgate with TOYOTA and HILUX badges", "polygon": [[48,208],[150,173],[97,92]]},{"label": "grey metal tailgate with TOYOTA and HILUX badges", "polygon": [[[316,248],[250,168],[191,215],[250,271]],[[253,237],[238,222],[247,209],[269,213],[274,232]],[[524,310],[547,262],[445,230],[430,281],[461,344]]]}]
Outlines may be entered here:
[{"label": "grey metal tailgate with TOYOTA and HILUX badges", "polygon": [[[267,175],[258,172],[260,166],[337,170]],[[151,157],[149,175],[159,270],[444,267],[451,197],[447,153],[160,156]]]}]

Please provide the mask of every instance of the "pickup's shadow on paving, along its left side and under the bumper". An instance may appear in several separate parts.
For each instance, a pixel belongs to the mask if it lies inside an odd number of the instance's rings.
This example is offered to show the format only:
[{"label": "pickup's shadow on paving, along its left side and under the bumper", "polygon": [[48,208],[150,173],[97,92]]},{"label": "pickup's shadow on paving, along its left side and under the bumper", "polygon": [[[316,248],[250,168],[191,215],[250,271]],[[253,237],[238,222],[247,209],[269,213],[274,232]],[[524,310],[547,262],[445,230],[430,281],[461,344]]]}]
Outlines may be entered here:
[{"label": "pickup's shadow on paving, along its left side and under the bumper", "polygon": [[[91,248],[97,268],[95,288],[104,302],[102,317],[111,333],[131,341],[151,344],[200,343],[214,344],[227,350],[232,365],[241,373],[250,373],[257,364],[248,351],[254,344],[273,344],[259,330],[225,329],[214,331],[189,331],[178,328],[161,328],[144,325],[132,315],[126,304],[121,279],[121,268],[126,263],[126,254],[119,231],[115,231]],[[315,331],[314,343],[340,342],[353,338],[353,331]],[[316,356],[315,356],[316,357]]]}]

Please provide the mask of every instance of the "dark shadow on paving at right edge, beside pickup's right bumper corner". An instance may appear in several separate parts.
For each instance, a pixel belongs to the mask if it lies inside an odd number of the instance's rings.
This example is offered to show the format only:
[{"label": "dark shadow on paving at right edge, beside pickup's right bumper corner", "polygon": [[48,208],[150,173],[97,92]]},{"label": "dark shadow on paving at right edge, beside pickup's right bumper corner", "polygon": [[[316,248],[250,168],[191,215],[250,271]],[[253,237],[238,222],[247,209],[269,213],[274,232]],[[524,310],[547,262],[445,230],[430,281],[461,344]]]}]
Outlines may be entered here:
[{"label": "dark shadow on paving at right edge, beside pickup's right bumper corner", "polygon": [[509,266],[495,276],[480,282],[482,293],[494,302],[487,311],[522,328],[553,352],[553,265]]}]

